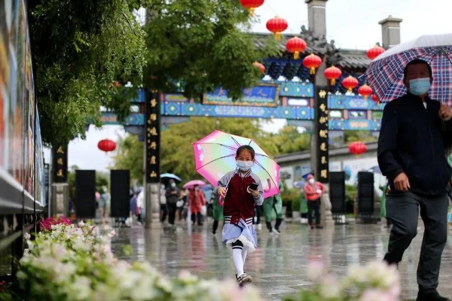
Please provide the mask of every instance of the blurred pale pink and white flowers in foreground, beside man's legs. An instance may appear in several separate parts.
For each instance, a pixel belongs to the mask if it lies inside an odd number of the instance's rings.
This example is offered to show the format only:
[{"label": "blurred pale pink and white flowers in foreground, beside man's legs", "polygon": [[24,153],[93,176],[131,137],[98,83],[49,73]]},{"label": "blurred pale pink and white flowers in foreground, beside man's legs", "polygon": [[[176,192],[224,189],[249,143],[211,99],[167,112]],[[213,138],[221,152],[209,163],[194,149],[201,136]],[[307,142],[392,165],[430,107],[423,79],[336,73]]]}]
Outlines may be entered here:
[{"label": "blurred pale pink and white flowers in foreground, beside man's legs", "polygon": [[342,279],[327,274],[324,265],[312,261],[307,276],[314,281],[310,290],[286,301],[397,301],[400,298],[399,273],[394,265],[374,261],[349,268]]}]

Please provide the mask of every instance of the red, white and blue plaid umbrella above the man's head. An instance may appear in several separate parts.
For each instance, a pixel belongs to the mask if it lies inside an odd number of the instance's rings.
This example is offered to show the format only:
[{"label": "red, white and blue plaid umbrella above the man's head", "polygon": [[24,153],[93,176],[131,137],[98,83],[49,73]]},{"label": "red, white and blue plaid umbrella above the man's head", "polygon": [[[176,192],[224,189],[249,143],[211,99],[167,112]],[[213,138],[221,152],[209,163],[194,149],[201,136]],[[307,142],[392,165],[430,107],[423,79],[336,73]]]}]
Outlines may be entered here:
[{"label": "red, white and blue plaid umbrella above the man's head", "polygon": [[372,61],[366,71],[367,81],[381,102],[406,94],[403,69],[408,62],[421,59],[430,64],[432,99],[452,106],[452,34],[422,36],[394,46]]}]

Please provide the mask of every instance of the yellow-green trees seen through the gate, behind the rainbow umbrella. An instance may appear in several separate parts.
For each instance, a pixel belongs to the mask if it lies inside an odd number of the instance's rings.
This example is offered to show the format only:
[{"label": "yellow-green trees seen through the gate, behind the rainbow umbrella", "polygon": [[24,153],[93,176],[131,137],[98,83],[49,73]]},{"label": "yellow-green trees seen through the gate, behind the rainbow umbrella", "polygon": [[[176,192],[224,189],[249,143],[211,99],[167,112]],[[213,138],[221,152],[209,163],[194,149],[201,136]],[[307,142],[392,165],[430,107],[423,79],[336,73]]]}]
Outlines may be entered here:
[{"label": "yellow-green trees seen through the gate, behind the rainbow umbrella", "polygon": [[[268,133],[260,128],[255,119],[192,117],[189,122],[171,124],[162,132],[161,171],[174,173],[184,181],[201,179],[194,171],[193,142],[208,135],[213,129],[235,135],[252,137],[269,156],[279,153]],[[114,157],[117,169],[129,169],[131,179],[143,180],[143,142],[138,136],[129,135],[118,142],[118,153]]]}]

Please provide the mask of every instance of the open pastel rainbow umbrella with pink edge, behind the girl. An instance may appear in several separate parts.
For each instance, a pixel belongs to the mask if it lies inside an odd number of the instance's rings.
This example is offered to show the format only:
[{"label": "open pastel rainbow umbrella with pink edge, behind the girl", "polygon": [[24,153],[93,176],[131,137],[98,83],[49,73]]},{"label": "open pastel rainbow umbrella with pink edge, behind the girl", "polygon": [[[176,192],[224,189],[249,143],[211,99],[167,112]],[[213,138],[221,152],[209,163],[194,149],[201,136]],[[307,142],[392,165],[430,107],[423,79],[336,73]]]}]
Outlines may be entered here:
[{"label": "open pastel rainbow umbrella with pink edge, behind the girl", "polygon": [[216,187],[219,179],[237,168],[236,152],[242,145],[250,145],[255,150],[251,171],[262,182],[264,198],[279,194],[279,165],[250,138],[215,130],[193,143],[196,171]]}]

